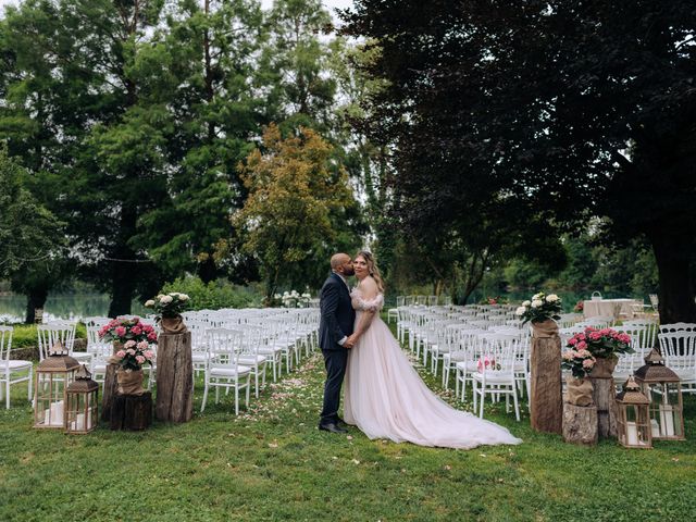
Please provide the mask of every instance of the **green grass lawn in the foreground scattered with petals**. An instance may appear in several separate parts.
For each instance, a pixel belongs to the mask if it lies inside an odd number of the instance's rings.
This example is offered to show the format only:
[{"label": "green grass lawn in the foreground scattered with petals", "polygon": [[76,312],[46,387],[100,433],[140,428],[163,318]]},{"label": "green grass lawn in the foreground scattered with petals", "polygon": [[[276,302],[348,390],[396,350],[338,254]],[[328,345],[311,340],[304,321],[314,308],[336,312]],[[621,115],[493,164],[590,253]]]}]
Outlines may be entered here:
[{"label": "green grass lawn in the foreground scattered with petals", "polygon": [[[84,436],[32,430],[16,385],[0,410],[0,521],[696,519],[693,397],[688,440],[652,450],[566,445],[501,406],[486,417],[524,444],[462,451],[320,432],[322,383],[313,355],[238,418],[213,398],[184,425]],[[201,398],[199,382],[196,411]]]}]

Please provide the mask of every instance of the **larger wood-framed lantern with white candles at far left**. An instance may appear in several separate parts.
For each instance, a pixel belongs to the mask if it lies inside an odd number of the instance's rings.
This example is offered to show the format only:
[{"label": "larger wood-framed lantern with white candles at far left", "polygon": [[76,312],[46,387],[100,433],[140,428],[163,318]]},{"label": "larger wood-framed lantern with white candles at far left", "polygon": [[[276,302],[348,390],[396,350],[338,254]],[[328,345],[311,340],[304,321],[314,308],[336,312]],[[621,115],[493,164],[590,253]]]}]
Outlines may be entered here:
[{"label": "larger wood-framed lantern with white candles at far left", "polygon": [[55,343],[39,362],[34,388],[34,427],[65,428],[65,388],[78,368],[79,363],[61,343]]}]

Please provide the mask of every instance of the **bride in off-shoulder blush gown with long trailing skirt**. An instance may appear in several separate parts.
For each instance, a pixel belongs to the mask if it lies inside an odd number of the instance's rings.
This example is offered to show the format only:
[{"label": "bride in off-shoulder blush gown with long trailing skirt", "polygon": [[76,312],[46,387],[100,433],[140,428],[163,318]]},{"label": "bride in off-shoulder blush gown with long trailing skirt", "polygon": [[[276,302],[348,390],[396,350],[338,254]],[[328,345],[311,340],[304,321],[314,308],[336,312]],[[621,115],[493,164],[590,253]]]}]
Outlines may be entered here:
[{"label": "bride in off-shoulder blush gown with long trailing skirt", "polygon": [[359,252],[353,269],[359,283],[351,293],[356,344],[346,375],[346,422],[372,439],[421,446],[520,444],[505,427],[456,410],[431,391],[378,316],[384,286],[372,254]]}]

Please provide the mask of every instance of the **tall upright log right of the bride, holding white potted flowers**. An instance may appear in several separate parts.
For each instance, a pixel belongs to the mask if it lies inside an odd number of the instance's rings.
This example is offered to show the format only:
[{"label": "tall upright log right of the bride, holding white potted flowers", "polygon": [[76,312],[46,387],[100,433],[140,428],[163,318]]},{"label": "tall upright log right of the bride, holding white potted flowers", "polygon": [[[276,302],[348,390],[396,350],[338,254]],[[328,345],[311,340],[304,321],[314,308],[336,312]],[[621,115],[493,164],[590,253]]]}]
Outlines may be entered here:
[{"label": "tall upright log right of the bride, holding white potted flowers", "polygon": [[530,418],[532,430],[562,433],[561,339],[549,320],[532,325]]}]

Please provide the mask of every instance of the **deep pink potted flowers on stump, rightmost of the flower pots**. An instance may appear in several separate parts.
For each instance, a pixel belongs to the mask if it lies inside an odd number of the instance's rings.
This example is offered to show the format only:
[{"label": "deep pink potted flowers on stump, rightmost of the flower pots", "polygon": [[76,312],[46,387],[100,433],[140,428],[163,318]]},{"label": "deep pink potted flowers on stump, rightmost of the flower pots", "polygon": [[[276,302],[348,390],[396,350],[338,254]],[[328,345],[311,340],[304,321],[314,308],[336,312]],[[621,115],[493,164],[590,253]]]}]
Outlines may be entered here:
[{"label": "deep pink potted flowers on stump, rightmost of the flower pots", "polygon": [[633,353],[631,336],[611,328],[587,326],[568,339],[568,348],[589,352],[596,360],[592,376],[609,378],[619,361],[619,353]]}]

